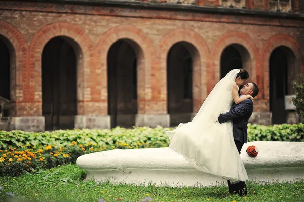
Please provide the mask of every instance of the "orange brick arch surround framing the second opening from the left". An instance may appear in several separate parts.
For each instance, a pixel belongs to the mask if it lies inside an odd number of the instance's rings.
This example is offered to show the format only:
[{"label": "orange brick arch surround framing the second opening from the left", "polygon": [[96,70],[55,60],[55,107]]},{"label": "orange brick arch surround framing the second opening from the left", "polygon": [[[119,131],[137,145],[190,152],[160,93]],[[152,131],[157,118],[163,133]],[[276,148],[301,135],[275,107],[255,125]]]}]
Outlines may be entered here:
[{"label": "orange brick arch surround framing the second opening from the left", "polygon": [[[67,42],[74,48],[78,57],[77,62],[77,113],[78,115],[85,114],[85,101],[94,100],[94,96],[98,96],[98,85],[92,80],[98,77],[98,72],[95,72],[95,47],[90,37],[85,31],[73,24],[57,22],[42,27],[34,35],[30,44],[29,56],[29,72],[30,72],[30,100],[41,102],[42,101],[42,83],[41,83],[41,60],[42,52],[45,45],[54,37],[63,36],[67,38]],[[93,76],[94,75],[94,76]],[[94,77],[94,78],[92,78]],[[93,93],[94,92],[94,96]],[[97,92],[97,94],[95,94]],[[87,111],[86,115],[91,113]],[[41,110],[39,111],[41,115]]]}]

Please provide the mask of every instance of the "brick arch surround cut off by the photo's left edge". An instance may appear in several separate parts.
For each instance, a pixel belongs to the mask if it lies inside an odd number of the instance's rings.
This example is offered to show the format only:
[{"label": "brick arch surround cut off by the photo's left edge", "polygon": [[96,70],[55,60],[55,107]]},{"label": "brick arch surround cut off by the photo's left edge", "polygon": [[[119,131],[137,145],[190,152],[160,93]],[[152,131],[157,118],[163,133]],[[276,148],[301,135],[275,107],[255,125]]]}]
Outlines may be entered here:
[{"label": "brick arch surround cut off by the photo's left edge", "polygon": [[[14,62],[11,69],[11,101],[13,109],[11,116],[22,116],[23,111],[17,111],[16,102],[26,101],[28,90],[27,74],[27,44],[21,32],[8,22],[0,21],[0,35],[7,39],[11,45],[9,48],[11,60]],[[12,65],[12,64],[11,64]],[[18,78],[18,79],[17,79]],[[17,93],[18,92],[18,93]]]}]

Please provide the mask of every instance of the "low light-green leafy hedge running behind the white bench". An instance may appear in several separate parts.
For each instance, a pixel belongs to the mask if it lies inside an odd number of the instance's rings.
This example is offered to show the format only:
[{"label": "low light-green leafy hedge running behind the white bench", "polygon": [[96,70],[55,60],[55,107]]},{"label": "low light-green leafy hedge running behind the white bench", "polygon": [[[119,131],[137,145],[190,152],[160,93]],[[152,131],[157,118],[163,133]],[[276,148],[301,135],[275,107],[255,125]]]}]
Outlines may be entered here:
[{"label": "low light-green leafy hedge running behind the white bench", "polygon": [[[0,131],[0,149],[24,145],[67,146],[72,141],[79,144],[115,146],[122,148],[166,147],[169,139],[164,131],[172,128],[134,127],[125,129],[116,127],[111,130],[57,130],[53,132]],[[119,142],[120,141],[120,142]],[[304,124],[282,124],[273,126],[248,124],[248,141],[293,141],[304,142]],[[122,145],[120,143],[126,143]]]}]

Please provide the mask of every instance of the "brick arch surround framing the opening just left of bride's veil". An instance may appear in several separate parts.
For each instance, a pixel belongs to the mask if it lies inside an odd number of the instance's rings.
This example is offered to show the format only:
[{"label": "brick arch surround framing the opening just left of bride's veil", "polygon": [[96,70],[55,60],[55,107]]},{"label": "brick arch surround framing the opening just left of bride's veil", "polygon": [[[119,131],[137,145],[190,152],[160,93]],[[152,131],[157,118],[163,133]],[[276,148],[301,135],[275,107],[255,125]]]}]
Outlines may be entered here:
[{"label": "brick arch surround framing the opening just left of bride's veil", "polygon": [[[186,42],[188,51],[194,60],[193,64],[193,111],[197,112],[207,97],[208,83],[208,58],[209,49],[204,38],[195,31],[189,29],[175,29],[167,33],[158,47],[158,66],[153,73],[153,87],[159,92],[158,99],[165,100],[163,111],[167,111],[167,57],[170,49],[179,42]],[[160,85],[161,84],[161,85]]]}]

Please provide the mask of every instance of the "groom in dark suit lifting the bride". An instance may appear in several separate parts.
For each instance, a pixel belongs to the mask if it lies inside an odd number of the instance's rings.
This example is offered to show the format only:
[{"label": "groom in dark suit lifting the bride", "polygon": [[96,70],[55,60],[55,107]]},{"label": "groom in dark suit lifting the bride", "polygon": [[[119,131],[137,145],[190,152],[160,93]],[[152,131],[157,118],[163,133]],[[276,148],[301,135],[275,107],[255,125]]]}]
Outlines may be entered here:
[{"label": "groom in dark suit lifting the bride", "polygon": [[[245,84],[243,88],[240,89],[241,96],[251,95],[252,97],[255,97],[258,92],[259,89],[253,82]],[[241,154],[244,143],[247,143],[247,124],[252,112],[253,102],[251,99],[247,99],[237,105],[233,104],[229,112],[220,114],[218,117],[218,122],[220,124],[232,120],[233,137],[239,154]],[[240,196],[247,195],[245,182],[240,181],[238,183],[231,184],[228,180],[228,188],[230,193],[238,193]]]}]

